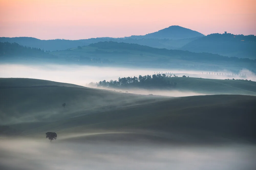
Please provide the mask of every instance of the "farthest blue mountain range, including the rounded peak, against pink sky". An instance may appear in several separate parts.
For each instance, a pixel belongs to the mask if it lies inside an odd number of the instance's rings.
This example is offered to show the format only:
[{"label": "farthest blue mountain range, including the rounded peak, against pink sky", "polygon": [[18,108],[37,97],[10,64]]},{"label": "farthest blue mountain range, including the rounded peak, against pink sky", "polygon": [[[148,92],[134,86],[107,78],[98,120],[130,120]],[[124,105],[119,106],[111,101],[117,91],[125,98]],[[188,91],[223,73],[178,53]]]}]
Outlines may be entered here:
[{"label": "farthest blue mountain range, including the rounded peak, against pink sky", "polygon": [[155,33],[124,38],[101,37],[83,40],[39,40],[33,37],[0,37],[0,42],[15,42],[23,46],[41,48],[45,51],[65,50],[68,48],[86,46],[91,43],[98,43],[102,41],[133,43],[156,48],[179,49],[187,43],[200,38],[201,36],[204,35],[187,28],[171,26]]}]

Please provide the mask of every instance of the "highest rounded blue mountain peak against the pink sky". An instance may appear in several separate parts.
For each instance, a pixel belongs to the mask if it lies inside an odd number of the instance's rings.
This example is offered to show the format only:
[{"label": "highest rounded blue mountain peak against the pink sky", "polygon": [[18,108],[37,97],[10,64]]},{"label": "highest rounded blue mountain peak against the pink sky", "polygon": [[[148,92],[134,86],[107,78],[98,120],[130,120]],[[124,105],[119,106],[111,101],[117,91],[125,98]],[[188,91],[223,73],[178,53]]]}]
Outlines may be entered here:
[{"label": "highest rounded blue mountain peak against the pink sky", "polygon": [[201,34],[200,32],[193,31],[184,27],[180,27],[178,25],[173,25],[168,28],[159,30],[157,32],[153,32],[146,35],[132,35],[129,38],[158,38],[158,39],[173,39],[173,40],[179,40],[179,39],[186,39],[186,38],[194,38],[194,37],[202,37],[204,34]]}]

